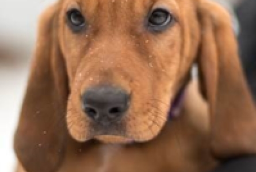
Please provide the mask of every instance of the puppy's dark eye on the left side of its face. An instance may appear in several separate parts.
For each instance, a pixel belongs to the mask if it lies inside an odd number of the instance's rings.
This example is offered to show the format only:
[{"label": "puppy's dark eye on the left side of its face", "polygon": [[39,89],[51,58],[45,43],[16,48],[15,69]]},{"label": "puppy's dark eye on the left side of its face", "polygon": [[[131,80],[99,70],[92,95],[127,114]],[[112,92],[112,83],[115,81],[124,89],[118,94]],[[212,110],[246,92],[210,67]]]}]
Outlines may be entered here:
[{"label": "puppy's dark eye on the left side of its face", "polygon": [[73,32],[79,32],[85,28],[85,17],[78,9],[67,11],[67,23]]}]

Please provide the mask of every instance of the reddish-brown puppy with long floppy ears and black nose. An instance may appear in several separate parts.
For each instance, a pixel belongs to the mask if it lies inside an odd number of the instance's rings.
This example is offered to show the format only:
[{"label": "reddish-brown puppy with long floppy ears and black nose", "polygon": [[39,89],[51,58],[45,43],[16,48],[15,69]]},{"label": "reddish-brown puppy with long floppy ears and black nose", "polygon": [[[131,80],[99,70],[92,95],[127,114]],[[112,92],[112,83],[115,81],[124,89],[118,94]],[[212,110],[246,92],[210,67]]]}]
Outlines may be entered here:
[{"label": "reddish-brown puppy with long floppy ears and black nose", "polygon": [[[209,108],[186,86],[194,62]],[[205,171],[256,153],[255,132],[230,19],[214,3],[62,0],[42,15],[14,143],[25,171]]]}]

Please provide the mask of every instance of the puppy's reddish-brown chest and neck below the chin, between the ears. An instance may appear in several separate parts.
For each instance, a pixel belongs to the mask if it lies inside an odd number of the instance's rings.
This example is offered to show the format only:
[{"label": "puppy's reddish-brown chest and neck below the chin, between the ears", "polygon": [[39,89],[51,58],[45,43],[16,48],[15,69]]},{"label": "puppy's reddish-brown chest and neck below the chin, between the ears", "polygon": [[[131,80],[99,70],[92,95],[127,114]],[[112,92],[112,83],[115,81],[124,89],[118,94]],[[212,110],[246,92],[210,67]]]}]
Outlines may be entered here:
[{"label": "puppy's reddish-brown chest and neck below the chin, between the ears", "polygon": [[58,172],[208,171],[216,163],[208,151],[207,136],[193,121],[167,123],[161,135],[145,144],[71,147]]}]

